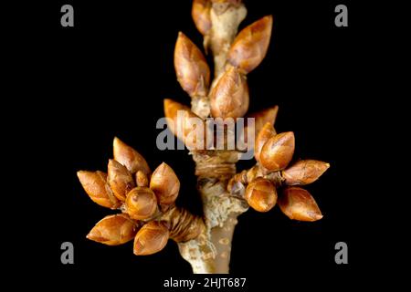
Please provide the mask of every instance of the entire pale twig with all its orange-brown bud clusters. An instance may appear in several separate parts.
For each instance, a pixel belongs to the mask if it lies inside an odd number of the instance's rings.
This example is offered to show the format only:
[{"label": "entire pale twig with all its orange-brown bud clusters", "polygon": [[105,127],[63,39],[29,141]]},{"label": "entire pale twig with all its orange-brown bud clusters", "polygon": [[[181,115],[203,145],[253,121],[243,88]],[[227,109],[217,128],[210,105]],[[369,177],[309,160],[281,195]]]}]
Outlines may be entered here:
[{"label": "entire pale twig with all its orange-brown bud clusters", "polygon": [[[227,273],[237,216],[249,206],[268,212],[278,203],[291,219],[321,219],[317,203],[300,185],[316,181],[329,164],[291,162],[295,137],[274,129],[277,106],[248,114],[248,74],[267,54],[273,18],[264,16],[237,33],[246,15],[241,0],[193,1],[192,16],[204,36],[205,53],[214,57],[213,78],[204,54],[188,36],[180,32],[175,44],[176,77],[191,98],[191,108],[164,99],[164,114],[169,129],[193,155],[204,215],[175,205],[180,183],[170,166],[162,163],[152,173],[142,155],[116,138],[107,174],[78,172],[95,203],[121,210],[96,224],[89,239],[121,245],[134,238],[134,254],[151,255],[171,238],[195,273]],[[215,140],[198,128],[205,129],[209,119],[243,117],[254,118],[245,125],[244,140],[257,163],[236,173],[241,151],[216,148]],[[227,141],[234,135],[227,130]]]}]

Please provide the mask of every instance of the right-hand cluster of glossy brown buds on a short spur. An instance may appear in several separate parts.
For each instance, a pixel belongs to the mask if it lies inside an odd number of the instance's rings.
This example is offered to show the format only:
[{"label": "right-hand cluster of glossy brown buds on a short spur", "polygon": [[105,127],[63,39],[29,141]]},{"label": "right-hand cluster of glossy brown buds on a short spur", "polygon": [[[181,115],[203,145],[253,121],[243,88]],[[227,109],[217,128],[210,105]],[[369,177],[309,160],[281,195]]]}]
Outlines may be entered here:
[{"label": "right-hand cluster of glossy brown buds on a short spur", "polygon": [[[294,148],[293,132],[277,134],[273,125],[266,123],[255,141],[254,156],[258,163],[237,173],[227,184],[228,192],[244,196],[258,212],[268,212],[278,201],[279,208],[290,219],[321,219],[321,211],[311,194],[297,185],[315,182],[330,164],[301,160],[289,167]],[[280,195],[277,189],[281,189]]]}]

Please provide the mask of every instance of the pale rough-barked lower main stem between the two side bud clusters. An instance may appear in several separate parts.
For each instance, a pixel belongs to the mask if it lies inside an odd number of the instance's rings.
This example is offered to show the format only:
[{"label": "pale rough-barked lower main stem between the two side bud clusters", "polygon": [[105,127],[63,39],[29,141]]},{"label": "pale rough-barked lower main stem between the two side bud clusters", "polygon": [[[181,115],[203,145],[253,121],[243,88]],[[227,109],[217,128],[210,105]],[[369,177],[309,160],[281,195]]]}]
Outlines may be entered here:
[{"label": "pale rough-barked lower main stem between the two side bud clusters", "polygon": [[[226,153],[223,153],[226,154]],[[237,154],[236,154],[237,155]],[[201,165],[208,160],[207,154],[195,153],[195,162]],[[218,151],[214,157],[220,159]],[[229,168],[229,176],[235,170]],[[205,228],[200,236],[192,241],[180,243],[180,253],[192,266],[194,273],[228,273],[231,244],[237,216],[248,210],[248,203],[242,198],[227,193],[227,176],[216,178],[215,173],[227,170],[224,160],[209,168],[209,173],[202,172],[198,177],[197,188],[203,201]],[[216,171],[216,172],[215,172]]]}]

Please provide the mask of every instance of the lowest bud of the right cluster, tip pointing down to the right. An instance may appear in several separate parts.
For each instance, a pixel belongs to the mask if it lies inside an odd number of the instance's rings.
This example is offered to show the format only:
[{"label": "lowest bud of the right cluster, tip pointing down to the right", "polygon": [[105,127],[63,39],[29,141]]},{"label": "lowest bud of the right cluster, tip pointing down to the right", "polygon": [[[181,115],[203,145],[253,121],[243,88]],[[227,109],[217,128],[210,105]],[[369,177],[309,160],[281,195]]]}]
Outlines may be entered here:
[{"label": "lowest bud of the right cluster, tip pointing down to the right", "polygon": [[283,190],[279,196],[279,208],[290,219],[317,221],[322,218],[320,208],[311,194],[296,186]]}]

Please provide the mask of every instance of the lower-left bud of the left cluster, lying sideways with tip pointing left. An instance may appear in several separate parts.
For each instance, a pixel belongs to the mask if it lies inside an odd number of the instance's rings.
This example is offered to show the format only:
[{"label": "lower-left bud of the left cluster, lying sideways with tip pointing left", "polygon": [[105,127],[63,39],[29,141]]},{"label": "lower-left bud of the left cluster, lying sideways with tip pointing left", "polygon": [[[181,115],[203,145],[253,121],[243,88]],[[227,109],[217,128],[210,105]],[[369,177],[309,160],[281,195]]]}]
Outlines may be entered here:
[{"label": "lower-left bud of the left cluster, lying sideways with tip pointing left", "polygon": [[137,233],[137,224],[127,214],[106,216],[91,229],[87,238],[104,245],[122,245]]}]

